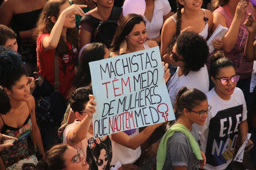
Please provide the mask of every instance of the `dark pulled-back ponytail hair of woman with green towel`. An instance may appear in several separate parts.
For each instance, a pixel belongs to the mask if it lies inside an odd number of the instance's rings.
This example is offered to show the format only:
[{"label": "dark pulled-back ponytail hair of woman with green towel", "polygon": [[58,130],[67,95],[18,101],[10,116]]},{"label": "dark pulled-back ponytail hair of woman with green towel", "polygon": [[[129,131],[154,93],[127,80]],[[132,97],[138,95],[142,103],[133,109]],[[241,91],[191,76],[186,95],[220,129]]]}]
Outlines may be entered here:
[{"label": "dark pulled-back ponytail hair of woman with green towel", "polygon": [[196,88],[188,89],[186,87],[182,87],[176,96],[173,108],[175,118],[177,119],[183,114],[184,108],[192,110],[205,100],[207,100],[207,97],[202,91]]}]

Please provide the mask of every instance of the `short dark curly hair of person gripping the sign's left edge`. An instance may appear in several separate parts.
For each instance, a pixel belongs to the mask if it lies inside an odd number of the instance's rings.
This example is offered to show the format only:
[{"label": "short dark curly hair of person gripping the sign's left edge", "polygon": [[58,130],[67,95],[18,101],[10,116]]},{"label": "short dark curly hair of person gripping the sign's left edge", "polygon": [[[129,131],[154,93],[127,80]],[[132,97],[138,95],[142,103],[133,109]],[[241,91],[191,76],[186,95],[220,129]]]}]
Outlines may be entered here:
[{"label": "short dark curly hair of person gripping the sign's left edge", "polygon": [[81,87],[75,90],[75,92],[69,100],[70,107],[72,108],[74,113],[76,111],[79,112],[85,109],[84,104],[89,101],[88,96],[91,94],[93,94],[91,86]]}]

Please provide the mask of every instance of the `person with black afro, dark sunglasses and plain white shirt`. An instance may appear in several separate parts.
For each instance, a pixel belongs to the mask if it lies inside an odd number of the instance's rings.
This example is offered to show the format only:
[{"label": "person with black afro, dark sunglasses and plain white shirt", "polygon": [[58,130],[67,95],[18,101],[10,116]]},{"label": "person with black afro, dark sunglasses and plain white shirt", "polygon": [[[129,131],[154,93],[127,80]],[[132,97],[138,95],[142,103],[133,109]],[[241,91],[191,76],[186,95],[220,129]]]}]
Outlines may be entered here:
[{"label": "person with black afro, dark sunglasses and plain white shirt", "polygon": [[171,64],[178,67],[167,82],[172,105],[183,86],[207,93],[209,78],[205,63],[209,48],[205,39],[193,31],[184,31],[168,53]]}]

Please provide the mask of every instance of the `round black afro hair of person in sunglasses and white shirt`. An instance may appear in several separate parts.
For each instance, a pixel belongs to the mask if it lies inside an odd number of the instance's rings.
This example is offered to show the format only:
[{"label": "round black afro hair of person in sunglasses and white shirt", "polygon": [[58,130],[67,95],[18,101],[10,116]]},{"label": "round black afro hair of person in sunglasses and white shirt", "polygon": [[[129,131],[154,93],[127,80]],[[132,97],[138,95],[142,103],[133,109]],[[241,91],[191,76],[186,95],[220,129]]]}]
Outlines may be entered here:
[{"label": "round black afro hair of person in sunglasses and white shirt", "polygon": [[184,58],[184,75],[199,71],[206,63],[209,47],[206,40],[193,31],[184,31],[176,40],[176,51]]}]

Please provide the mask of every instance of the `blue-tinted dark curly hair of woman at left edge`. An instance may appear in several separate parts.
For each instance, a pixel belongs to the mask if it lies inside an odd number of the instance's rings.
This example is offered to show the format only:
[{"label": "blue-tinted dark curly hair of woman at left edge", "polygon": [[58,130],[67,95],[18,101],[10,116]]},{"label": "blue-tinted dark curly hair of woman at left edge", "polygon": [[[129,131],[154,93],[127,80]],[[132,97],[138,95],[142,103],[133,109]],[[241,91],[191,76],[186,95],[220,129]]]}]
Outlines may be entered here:
[{"label": "blue-tinted dark curly hair of woman at left edge", "polygon": [[11,50],[3,50],[0,47],[0,85],[12,90],[15,82],[23,75],[25,69],[21,66],[20,55]]}]

